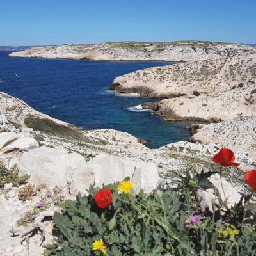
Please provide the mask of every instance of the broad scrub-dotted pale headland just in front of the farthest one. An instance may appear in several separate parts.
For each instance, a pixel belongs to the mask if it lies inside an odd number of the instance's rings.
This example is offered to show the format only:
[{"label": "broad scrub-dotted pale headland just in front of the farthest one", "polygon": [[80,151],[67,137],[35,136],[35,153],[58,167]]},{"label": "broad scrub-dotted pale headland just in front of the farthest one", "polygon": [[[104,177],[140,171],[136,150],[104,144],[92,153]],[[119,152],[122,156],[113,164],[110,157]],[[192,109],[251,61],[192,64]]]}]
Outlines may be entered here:
[{"label": "broad scrub-dotted pale headland just in front of the farthest one", "polygon": [[256,52],[253,52],[138,70],[116,77],[110,88],[118,93],[140,93],[147,97],[197,97],[225,92],[255,79]]}]

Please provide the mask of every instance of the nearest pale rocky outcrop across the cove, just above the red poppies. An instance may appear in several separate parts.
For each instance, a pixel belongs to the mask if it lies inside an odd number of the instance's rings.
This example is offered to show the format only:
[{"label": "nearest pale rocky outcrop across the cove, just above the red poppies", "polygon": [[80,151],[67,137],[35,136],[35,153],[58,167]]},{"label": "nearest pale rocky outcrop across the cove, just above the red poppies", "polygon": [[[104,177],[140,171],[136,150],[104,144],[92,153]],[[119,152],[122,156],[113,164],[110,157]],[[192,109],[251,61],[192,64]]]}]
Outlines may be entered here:
[{"label": "nearest pale rocky outcrop across the cove, just above the red poppies", "polygon": [[191,141],[214,143],[246,152],[256,161],[256,116],[241,116],[218,124],[209,124],[191,137]]}]

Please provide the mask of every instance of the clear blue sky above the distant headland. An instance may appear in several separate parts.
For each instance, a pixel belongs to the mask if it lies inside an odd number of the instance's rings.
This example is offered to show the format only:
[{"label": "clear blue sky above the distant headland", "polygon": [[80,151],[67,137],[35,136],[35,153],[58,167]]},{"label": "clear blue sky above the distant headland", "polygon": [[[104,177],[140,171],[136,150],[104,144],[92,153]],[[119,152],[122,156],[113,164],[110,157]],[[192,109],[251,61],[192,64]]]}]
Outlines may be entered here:
[{"label": "clear blue sky above the distant headland", "polygon": [[0,0],[0,45],[256,43],[256,0]]}]

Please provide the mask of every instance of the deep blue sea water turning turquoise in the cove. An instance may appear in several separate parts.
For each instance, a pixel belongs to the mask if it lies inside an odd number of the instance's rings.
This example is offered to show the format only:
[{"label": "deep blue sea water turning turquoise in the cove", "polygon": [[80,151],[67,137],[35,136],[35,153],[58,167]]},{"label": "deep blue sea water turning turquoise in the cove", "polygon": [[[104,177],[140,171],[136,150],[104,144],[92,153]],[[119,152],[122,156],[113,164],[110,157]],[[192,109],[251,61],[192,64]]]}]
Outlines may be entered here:
[{"label": "deep blue sea water turning turquoise in the cove", "polygon": [[38,111],[84,129],[111,128],[143,138],[158,148],[186,140],[191,122],[168,122],[140,109],[156,101],[109,91],[116,76],[171,63],[10,58],[0,51],[0,91],[19,97]]}]

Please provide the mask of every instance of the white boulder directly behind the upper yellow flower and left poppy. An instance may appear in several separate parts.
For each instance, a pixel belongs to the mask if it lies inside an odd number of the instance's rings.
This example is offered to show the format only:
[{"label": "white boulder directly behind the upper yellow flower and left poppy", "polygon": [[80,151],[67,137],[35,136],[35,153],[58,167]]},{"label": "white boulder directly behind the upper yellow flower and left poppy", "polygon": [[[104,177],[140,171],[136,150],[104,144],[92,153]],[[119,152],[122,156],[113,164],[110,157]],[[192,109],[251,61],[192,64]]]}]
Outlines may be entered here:
[{"label": "white boulder directly behind the upper yellow flower and left poppy", "polygon": [[[99,154],[86,164],[86,172],[81,170],[72,176],[71,191],[82,191],[88,185],[102,186],[130,177],[136,191],[147,192],[156,188],[159,182],[157,166],[147,162],[133,162],[115,155]],[[81,182],[83,180],[83,182]],[[91,180],[91,182],[89,182]]]}]

